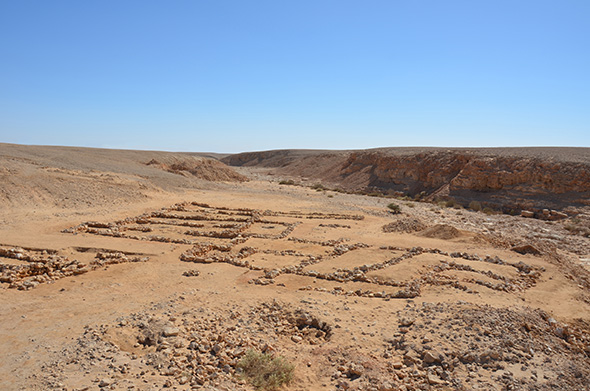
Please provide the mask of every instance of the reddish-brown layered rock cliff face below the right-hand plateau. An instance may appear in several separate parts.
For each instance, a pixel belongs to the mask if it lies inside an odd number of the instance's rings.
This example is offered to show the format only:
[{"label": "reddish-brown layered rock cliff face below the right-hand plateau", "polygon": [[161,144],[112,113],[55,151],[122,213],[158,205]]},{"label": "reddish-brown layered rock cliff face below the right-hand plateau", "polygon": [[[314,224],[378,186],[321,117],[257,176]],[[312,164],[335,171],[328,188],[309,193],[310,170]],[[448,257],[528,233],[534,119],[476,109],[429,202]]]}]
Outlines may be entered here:
[{"label": "reddish-brown layered rock cliff face below the right-hand plateau", "polygon": [[368,187],[410,196],[482,201],[504,208],[555,208],[590,204],[590,165],[533,157],[438,152],[387,156],[352,153],[342,178],[368,170]]}]

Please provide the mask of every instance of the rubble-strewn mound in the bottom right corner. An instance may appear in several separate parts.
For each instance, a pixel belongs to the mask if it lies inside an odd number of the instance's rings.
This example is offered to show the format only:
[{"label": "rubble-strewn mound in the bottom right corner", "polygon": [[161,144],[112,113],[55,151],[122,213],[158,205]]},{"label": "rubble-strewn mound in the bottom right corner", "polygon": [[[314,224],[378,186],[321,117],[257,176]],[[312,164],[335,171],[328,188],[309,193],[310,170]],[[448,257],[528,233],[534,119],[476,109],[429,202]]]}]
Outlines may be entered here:
[{"label": "rubble-strewn mound in the bottom right corner", "polygon": [[423,303],[397,317],[382,356],[398,379],[411,368],[422,384],[462,390],[582,390],[590,382],[588,330],[542,310]]}]

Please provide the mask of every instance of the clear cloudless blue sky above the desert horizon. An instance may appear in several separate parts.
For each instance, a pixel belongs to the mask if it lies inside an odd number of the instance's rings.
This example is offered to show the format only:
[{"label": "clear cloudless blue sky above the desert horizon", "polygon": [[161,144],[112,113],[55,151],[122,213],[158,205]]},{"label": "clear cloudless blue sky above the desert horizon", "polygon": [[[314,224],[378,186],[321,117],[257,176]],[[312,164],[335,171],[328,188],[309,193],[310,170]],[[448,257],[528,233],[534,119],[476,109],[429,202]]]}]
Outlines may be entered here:
[{"label": "clear cloudless blue sky above the desert horizon", "polygon": [[590,147],[590,1],[0,0],[0,142]]}]

